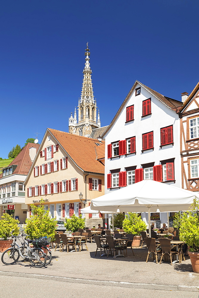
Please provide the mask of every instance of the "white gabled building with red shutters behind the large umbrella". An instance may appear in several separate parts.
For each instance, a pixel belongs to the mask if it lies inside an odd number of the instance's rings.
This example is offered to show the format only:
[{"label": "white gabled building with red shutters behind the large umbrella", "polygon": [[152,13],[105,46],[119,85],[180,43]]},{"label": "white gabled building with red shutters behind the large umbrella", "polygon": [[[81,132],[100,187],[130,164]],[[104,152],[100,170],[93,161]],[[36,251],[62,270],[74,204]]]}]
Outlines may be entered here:
[{"label": "white gabled building with red shutters behind the large umbrella", "polygon": [[[136,81],[102,134],[105,193],[152,179],[181,187],[179,107],[182,102]],[[159,214],[157,214],[159,215]],[[147,214],[143,214],[147,220]],[[167,214],[160,214],[161,223]]]}]

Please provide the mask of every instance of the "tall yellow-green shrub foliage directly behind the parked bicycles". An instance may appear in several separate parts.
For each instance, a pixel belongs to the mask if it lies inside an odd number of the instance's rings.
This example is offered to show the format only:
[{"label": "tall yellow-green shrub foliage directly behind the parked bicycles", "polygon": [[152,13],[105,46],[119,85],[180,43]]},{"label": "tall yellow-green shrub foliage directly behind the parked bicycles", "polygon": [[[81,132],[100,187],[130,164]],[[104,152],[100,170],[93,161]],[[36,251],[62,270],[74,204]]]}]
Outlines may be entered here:
[{"label": "tall yellow-green shrub foliage directly behind the parked bicycles", "polygon": [[39,206],[30,205],[32,214],[30,218],[26,218],[25,232],[30,235],[31,239],[39,237],[54,238],[57,225],[56,218],[51,218],[49,210],[44,210],[44,201],[41,198]]}]

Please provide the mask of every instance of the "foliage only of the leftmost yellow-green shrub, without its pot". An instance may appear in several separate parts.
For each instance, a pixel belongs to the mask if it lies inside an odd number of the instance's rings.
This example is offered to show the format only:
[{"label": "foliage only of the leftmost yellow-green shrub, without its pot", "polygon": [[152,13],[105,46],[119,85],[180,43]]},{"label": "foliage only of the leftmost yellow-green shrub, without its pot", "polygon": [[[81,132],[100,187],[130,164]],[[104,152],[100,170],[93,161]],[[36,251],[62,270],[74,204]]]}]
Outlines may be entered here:
[{"label": "foliage only of the leftmost yellow-green shrub, without its pot", "polygon": [[17,236],[19,234],[18,224],[18,219],[14,219],[8,213],[4,213],[1,216],[0,220],[0,238],[2,238],[3,240],[7,240],[8,238],[10,238],[10,234],[12,231],[12,234]]}]

